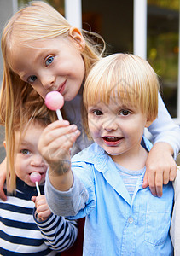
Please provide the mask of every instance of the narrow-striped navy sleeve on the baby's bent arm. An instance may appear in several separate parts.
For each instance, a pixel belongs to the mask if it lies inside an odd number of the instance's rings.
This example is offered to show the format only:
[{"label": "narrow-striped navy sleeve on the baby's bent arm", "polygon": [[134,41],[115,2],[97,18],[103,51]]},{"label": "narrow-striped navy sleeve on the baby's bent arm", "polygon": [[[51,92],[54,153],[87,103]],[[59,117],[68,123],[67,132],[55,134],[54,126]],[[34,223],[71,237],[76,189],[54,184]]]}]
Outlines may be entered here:
[{"label": "narrow-striped navy sleeve on the baby's bent arm", "polygon": [[78,225],[75,220],[68,220],[52,213],[42,222],[36,218],[35,209],[33,217],[44,238],[44,243],[57,252],[71,247],[78,236]]}]

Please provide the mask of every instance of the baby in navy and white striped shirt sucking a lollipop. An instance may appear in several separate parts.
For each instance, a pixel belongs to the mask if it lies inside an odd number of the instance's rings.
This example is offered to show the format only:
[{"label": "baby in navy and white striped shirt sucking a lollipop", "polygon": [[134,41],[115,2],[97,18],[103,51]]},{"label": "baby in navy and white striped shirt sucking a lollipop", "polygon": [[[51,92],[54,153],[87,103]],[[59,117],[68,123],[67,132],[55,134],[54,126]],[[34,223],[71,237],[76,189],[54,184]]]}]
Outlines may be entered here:
[{"label": "baby in navy and white striped shirt sucking a lollipop", "polygon": [[[38,138],[50,121],[46,118],[47,112],[43,118],[40,114],[35,114],[23,127],[19,118],[14,124],[14,160],[13,165],[9,161],[11,173],[4,187],[8,196],[7,201],[0,200],[1,255],[60,255],[58,252],[71,247],[78,234],[76,221],[56,216],[45,201],[44,179],[48,166],[38,153]],[[6,140],[6,149],[8,145]],[[30,179],[32,172],[41,175],[42,195],[37,197],[35,184]],[[16,189],[12,190],[14,182]]]}]

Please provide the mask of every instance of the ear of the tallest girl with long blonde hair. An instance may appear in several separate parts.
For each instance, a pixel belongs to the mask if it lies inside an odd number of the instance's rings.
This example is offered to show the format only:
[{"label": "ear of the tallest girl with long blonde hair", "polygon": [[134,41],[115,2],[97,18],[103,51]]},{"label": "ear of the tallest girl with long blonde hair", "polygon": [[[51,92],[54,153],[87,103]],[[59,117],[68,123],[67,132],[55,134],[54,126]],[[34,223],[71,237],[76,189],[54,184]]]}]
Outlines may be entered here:
[{"label": "ear of the tallest girl with long blonde hair", "polygon": [[77,44],[80,51],[84,51],[85,48],[85,39],[79,29],[75,26],[72,26],[69,30],[69,36],[73,38],[75,44]]}]

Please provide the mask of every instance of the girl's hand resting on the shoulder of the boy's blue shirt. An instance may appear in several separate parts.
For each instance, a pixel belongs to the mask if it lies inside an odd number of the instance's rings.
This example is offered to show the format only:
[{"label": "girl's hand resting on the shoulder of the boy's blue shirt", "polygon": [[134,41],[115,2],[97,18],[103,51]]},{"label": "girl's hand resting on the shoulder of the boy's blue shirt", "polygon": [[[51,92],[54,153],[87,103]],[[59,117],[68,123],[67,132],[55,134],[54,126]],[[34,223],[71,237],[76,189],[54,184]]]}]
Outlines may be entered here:
[{"label": "girl's hand resting on the shoulder of the boy's blue shirt", "polygon": [[162,196],[163,184],[176,177],[177,166],[172,154],[173,150],[168,143],[155,143],[148,154],[142,187],[145,189],[149,185],[153,195]]}]

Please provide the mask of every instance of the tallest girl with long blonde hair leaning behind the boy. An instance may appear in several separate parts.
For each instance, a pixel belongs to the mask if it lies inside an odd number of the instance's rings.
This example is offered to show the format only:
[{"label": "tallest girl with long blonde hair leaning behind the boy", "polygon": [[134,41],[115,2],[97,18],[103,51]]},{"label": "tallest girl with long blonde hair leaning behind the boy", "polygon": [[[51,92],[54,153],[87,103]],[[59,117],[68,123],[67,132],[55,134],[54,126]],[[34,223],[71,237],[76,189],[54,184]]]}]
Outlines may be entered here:
[{"label": "tallest girl with long blonde hair leaning behind the boy", "polygon": [[[72,154],[91,142],[84,135],[80,116],[81,95],[90,68],[102,53],[89,39],[91,33],[80,32],[43,1],[34,1],[20,9],[3,30],[3,84],[0,113],[11,137],[16,108],[36,90],[43,98],[51,90],[58,90],[65,98],[64,117],[78,125],[81,136],[73,145]],[[154,147],[148,154],[144,188],[148,185],[154,195],[162,195],[162,184],[176,176],[176,158],[180,149],[180,130],[165,109],[159,96],[158,119],[148,128]],[[10,147],[10,144],[9,144]],[[9,149],[7,156],[9,157]],[[5,179],[5,161],[1,165],[1,183]],[[3,191],[0,196],[5,200]]]}]

